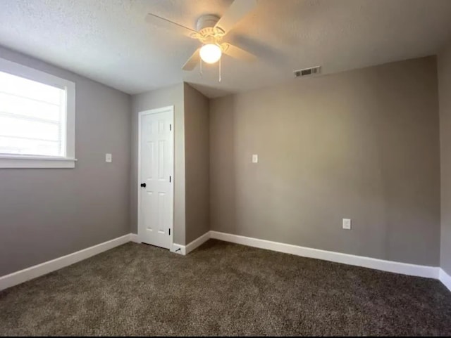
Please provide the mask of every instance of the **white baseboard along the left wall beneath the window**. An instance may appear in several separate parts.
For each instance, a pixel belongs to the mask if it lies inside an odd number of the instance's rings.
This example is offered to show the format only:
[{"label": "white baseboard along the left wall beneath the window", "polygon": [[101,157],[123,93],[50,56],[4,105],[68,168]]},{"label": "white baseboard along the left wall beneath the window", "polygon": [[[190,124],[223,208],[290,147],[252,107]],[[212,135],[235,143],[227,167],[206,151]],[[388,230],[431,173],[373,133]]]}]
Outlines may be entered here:
[{"label": "white baseboard along the left wall beneath the window", "polygon": [[113,247],[123,245],[130,242],[130,237],[130,234],[123,235],[121,237],[114,238],[113,240],[94,245],[93,247],[87,247],[86,249],[82,249],[78,252],[73,252],[72,254],[67,254],[66,256],[58,257],[57,259],[52,259],[51,261],[46,261],[42,264],[37,264],[35,266],[31,266],[30,268],[25,268],[14,273],[10,273],[9,275],[1,276],[0,290],[4,290],[7,287],[18,285],[42,275],[46,275],[47,273],[70,266],[71,264],[77,263],[78,261],[82,261],[83,259],[87,259],[96,254],[100,254],[106,250],[113,249]]}]

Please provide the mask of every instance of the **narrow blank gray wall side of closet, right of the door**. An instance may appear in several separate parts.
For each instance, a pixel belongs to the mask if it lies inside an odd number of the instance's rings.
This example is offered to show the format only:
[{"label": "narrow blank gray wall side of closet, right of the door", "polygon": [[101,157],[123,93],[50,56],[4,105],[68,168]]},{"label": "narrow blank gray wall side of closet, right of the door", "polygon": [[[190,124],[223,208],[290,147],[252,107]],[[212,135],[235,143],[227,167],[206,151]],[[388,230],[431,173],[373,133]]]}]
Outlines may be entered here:
[{"label": "narrow blank gray wall side of closet, right of the door", "polygon": [[210,230],[209,99],[184,86],[186,243]]}]

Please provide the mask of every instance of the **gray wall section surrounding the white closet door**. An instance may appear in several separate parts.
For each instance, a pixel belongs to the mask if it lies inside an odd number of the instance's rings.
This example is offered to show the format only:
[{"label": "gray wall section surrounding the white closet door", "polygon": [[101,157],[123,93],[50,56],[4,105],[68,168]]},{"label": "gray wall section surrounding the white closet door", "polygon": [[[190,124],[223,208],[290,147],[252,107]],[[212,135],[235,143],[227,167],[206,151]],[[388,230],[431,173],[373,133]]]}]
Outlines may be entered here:
[{"label": "gray wall section surrounding the white closet door", "polygon": [[174,242],[185,245],[185,121],[183,84],[132,96],[132,145],[130,224],[137,233],[138,114],[144,110],[174,106]]}]

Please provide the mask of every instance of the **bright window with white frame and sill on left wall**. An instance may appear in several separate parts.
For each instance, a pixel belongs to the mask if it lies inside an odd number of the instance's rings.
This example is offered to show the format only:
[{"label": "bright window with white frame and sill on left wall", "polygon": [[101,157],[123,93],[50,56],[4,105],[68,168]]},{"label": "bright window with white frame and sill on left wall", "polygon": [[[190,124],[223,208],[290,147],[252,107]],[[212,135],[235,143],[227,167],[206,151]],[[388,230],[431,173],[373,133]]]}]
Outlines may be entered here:
[{"label": "bright window with white frame and sill on left wall", "polygon": [[75,167],[75,84],[0,59],[0,167]]}]

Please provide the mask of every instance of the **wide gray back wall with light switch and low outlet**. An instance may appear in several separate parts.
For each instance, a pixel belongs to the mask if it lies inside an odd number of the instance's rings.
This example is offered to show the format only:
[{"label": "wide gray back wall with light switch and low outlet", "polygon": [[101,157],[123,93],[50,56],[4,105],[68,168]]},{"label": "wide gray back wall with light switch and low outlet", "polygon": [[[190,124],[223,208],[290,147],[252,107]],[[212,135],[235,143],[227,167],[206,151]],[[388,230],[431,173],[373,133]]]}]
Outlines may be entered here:
[{"label": "wide gray back wall with light switch and low outlet", "polygon": [[210,101],[212,230],[438,266],[439,171],[435,57]]}]

